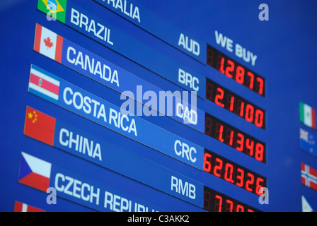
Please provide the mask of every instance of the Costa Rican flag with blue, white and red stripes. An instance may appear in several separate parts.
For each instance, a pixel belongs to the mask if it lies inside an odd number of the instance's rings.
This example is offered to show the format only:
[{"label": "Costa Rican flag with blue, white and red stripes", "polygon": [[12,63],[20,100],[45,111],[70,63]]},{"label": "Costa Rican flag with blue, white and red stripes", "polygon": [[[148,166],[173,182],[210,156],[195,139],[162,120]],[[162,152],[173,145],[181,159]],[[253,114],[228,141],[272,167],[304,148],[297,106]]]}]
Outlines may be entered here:
[{"label": "Costa Rican flag with blue, white and red stripes", "polygon": [[57,104],[59,98],[60,80],[52,73],[45,71],[34,64],[30,69],[28,91],[50,102]]}]

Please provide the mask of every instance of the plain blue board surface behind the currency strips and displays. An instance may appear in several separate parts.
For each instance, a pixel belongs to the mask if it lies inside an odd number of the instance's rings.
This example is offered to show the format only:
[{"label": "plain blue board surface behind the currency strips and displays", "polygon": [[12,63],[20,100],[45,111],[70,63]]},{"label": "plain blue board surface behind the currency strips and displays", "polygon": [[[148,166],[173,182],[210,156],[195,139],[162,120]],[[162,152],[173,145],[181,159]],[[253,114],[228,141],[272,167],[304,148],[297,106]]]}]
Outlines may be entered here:
[{"label": "plain blue board surface behind the currency strips and displays", "polygon": [[[148,160],[168,169],[195,179],[210,188],[217,190],[238,201],[263,211],[301,211],[301,196],[317,201],[317,191],[301,184],[301,162],[317,169],[317,159],[304,152],[299,146],[299,128],[302,127],[316,136],[316,130],[310,129],[299,122],[299,102],[305,102],[317,109],[317,76],[316,59],[316,22],[315,1],[146,1],[140,4],[175,24],[182,30],[199,37],[229,57],[236,59],[266,79],[266,97],[260,97],[248,88],[226,78],[210,66],[188,57],[178,49],[162,42],[154,35],[132,25],[129,21],[100,6],[95,1],[73,0],[77,5],[87,8],[103,20],[109,20],[117,28],[137,37],[166,56],[175,59],[201,75],[207,76],[225,88],[244,97],[266,110],[266,130],[258,129],[253,124],[221,109],[212,102],[198,100],[198,107],[225,121],[228,124],[264,141],[267,144],[267,164],[254,160],[239,153],[207,135],[190,129],[168,117],[143,117],[144,119],[177,134],[197,145],[212,150],[223,157],[247,167],[267,177],[269,204],[260,205],[258,196],[238,188],[234,184],[195,169],[183,162],[163,155],[141,143],[132,141],[125,136],[105,129],[88,119],[71,113],[62,107],[42,100],[28,93],[30,64],[36,64],[60,78],[87,90],[98,97],[120,106],[120,93],[115,92],[96,81],[82,76],[76,71],[59,64],[33,51],[35,23],[57,32],[71,42],[97,54],[122,69],[143,78],[164,90],[182,90],[178,85],[167,81],[140,66],[134,61],[117,54],[91,38],[81,35],[58,21],[48,21],[44,13],[36,9],[37,1],[1,1],[1,132],[0,132],[0,210],[12,211],[14,201],[21,201],[47,211],[88,211],[89,208],[64,200],[57,199],[57,205],[47,205],[47,194],[18,183],[18,162],[21,151],[35,155],[82,177],[89,178],[100,184],[106,184],[136,198],[140,198],[154,206],[173,211],[202,210],[190,203],[164,194],[149,186],[109,172],[108,178],[103,177],[102,167],[52,148],[23,135],[26,106],[34,107],[52,117],[61,119],[70,125],[78,126],[93,136],[132,151]],[[270,7],[270,20],[258,19],[258,6],[262,3]],[[258,56],[255,66],[246,64],[233,53],[227,52],[217,45],[214,30],[226,35],[234,43],[250,50]],[[137,53],[132,53],[137,54]],[[149,61],[151,58],[149,57]],[[135,88],[132,88],[134,90]],[[153,131],[153,139],[156,133]],[[125,164],[127,159],[122,159]],[[140,166],[142,167],[142,166]],[[144,169],[146,172],[146,169]],[[159,172],[158,172],[159,173]]]}]

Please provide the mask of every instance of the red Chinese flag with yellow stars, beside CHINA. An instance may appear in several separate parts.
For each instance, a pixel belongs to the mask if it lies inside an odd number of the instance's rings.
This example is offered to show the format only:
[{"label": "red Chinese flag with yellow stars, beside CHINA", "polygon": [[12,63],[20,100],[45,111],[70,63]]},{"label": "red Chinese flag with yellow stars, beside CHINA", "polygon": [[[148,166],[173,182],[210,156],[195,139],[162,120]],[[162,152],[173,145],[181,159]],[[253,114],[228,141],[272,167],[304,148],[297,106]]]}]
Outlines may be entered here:
[{"label": "red Chinese flag with yellow stars, beside CHINA", "polygon": [[55,121],[55,118],[27,106],[23,133],[38,141],[53,145]]}]

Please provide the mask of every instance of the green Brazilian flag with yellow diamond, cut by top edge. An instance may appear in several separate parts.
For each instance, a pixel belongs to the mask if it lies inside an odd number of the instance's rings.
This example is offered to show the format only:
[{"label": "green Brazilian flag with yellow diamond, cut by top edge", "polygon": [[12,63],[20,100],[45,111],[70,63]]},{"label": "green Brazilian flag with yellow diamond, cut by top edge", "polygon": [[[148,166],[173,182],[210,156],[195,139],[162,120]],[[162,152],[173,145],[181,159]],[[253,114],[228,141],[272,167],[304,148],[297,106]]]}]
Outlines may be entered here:
[{"label": "green Brazilian flag with yellow diamond, cut by top edge", "polygon": [[38,10],[65,23],[67,0],[38,0]]}]

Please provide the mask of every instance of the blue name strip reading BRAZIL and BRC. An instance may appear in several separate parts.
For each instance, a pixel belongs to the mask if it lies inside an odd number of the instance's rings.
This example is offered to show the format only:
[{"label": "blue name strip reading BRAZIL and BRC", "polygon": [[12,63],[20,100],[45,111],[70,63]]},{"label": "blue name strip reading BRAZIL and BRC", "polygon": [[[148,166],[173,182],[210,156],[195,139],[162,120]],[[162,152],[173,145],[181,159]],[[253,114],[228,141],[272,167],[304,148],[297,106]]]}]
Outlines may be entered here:
[{"label": "blue name strip reading BRAZIL and BRC", "polygon": [[[188,69],[188,66],[182,65],[175,59],[169,59],[158,49],[141,42],[137,37],[117,28],[110,21],[105,21],[103,18],[95,16],[72,1],[67,1],[65,7],[67,7],[66,15],[62,18],[57,18],[60,22],[74,28],[83,35],[91,37],[91,39],[103,44],[105,47],[132,59],[132,61],[146,67],[146,69],[154,71],[154,73],[159,74],[168,81],[186,90],[197,92],[199,97],[204,98],[204,76],[192,76],[195,74],[193,69]],[[42,6],[42,2],[38,3],[38,9],[43,13],[47,13],[47,8]],[[182,73],[182,71],[184,72]]]}]

